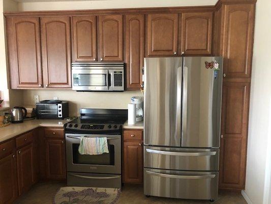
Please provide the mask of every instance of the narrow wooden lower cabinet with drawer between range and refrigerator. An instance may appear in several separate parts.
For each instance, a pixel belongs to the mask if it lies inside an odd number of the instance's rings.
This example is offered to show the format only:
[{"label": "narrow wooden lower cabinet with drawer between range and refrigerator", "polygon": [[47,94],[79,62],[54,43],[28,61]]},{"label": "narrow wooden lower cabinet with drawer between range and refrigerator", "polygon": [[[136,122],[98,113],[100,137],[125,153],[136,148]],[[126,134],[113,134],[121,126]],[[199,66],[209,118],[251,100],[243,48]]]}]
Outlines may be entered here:
[{"label": "narrow wooden lower cabinet with drawer between range and refrigerator", "polygon": [[124,131],[123,182],[143,183],[143,131]]}]

